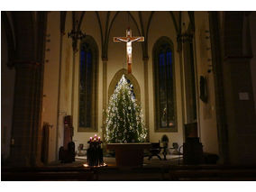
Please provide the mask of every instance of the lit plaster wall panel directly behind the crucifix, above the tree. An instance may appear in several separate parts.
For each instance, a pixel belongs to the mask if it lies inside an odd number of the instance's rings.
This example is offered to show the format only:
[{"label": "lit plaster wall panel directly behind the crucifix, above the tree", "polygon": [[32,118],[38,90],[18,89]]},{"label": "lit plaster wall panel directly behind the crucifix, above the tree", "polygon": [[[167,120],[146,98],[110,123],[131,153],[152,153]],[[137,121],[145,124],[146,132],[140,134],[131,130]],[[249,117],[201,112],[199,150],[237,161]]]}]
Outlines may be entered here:
[{"label": "lit plaster wall panel directly behind the crucifix, above the tree", "polygon": [[[107,92],[110,82],[114,78],[116,72],[120,69],[127,69],[126,64],[126,43],[114,42],[116,36],[126,36],[126,29],[130,26],[133,36],[139,36],[139,32],[133,21],[128,22],[127,14],[120,13],[114,21],[112,31],[110,32],[109,47],[108,47],[108,63],[107,63]],[[133,65],[132,74],[137,79],[141,90],[141,105],[142,111],[145,112],[144,99],[144,67],[142,60],[142,42],[133,42]],[[108,98],[107,98],[108,103]],[[143,114],[145,115],[145,114]]]}]

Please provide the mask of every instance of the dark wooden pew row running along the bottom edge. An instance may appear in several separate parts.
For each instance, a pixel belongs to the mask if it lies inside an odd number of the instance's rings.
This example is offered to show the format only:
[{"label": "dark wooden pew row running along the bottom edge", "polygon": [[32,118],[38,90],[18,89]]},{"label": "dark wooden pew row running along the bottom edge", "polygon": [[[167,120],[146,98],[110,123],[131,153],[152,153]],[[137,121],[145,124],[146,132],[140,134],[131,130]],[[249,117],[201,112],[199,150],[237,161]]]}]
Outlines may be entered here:
[{"label": "dark wooden pew row running along the bottom edge", "polygon": [[128,169],[117,167],[2,168],[2,180],[256,180],[256,167],[178,165]]}]

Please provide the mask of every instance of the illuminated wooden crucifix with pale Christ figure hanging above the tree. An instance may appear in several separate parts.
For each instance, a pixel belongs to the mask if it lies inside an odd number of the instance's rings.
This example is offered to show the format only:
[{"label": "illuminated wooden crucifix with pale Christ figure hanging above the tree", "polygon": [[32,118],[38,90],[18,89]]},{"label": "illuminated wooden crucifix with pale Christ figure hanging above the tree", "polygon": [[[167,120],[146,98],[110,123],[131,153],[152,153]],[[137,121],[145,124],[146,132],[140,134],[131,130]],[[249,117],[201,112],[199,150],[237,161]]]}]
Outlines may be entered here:
[{"label": "illuminated wooden crucifix with pale Christ figure hanging above the tree", "polygon": [[126,30],[126,37],[114,37],[114,42],[126,42],[126,58],[128,65],[128,73],[132,73],[132,42],[144,41],[144,37],[132,37],[132,30]]}]

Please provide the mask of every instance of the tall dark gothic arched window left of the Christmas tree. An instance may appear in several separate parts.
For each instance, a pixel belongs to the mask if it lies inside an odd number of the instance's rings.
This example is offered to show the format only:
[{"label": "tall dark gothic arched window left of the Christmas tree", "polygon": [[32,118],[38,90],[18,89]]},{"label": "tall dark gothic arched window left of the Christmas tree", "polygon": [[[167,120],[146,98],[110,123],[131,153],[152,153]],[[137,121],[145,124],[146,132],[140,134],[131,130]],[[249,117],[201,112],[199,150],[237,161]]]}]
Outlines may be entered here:
[{"label": "tall dark gothic arched window left of the Christmas tree", "polygon": [[79,52],[78,132],[97,131],[98,49],[96,41],[87,36]]}]

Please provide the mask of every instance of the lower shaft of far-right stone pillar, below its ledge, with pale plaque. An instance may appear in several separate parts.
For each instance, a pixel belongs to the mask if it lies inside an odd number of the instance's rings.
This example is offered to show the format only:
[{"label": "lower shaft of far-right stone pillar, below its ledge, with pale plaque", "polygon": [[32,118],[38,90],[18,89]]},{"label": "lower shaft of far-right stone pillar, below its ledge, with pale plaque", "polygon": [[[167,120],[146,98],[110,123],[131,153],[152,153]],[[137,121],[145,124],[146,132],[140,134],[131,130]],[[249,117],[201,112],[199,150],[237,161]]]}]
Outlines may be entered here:
[{"label": "lower shaft of far-right stone pillar, below its ledge, with pale plaque", "polygon": [[224,59],[224,105],[230,161],[255,164],[256,122],[251,83],[251,57]]}]

